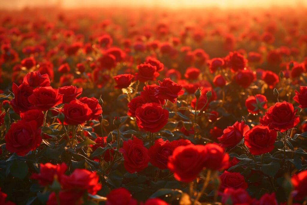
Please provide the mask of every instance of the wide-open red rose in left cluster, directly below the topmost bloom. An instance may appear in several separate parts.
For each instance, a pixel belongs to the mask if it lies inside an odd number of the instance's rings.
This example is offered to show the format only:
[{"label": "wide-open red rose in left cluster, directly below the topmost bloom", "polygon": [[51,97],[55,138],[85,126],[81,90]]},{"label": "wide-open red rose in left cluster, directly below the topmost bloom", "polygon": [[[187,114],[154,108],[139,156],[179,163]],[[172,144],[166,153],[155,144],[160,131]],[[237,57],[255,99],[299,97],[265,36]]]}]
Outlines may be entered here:
[{"label": "wide-open red rose in left cluster, directly below the topmost bloom", "polygon": [[63,102],[63,95],[59,93],[58,89],[53,89],[51,86],[36,87],[28,99],[33,108],[47,111],[61,104]]}]

